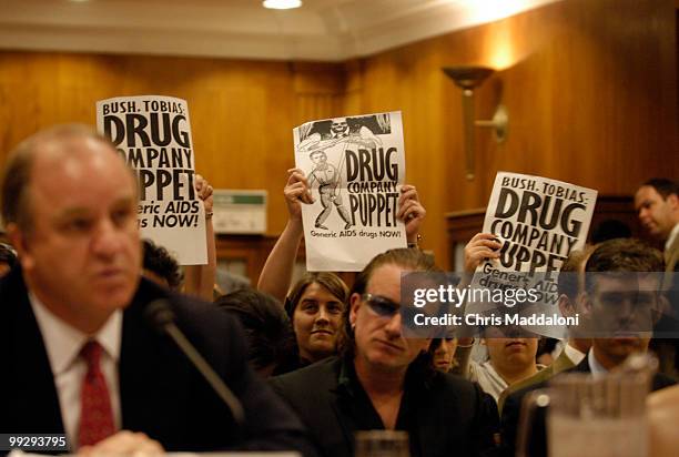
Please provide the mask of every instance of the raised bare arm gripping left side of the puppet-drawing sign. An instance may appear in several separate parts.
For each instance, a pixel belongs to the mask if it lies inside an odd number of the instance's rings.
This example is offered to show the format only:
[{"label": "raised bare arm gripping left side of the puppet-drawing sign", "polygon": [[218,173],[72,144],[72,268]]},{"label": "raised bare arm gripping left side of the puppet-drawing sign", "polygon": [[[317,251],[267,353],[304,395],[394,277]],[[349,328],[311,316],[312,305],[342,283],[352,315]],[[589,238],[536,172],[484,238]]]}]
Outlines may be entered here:
[{"label": "raised bare arm gripping left side of the puppet-drawing sign", "polygon": [[300,169],[291,169],[287,172],[290,176],[283,193],[290,219],[273,250],[271,250],[257,282],[260,291],[273,295],[281,302],[285,301],[285,295],[292,283],[295,258],[304,236],[302,203],[314,202],[304,172]]}]

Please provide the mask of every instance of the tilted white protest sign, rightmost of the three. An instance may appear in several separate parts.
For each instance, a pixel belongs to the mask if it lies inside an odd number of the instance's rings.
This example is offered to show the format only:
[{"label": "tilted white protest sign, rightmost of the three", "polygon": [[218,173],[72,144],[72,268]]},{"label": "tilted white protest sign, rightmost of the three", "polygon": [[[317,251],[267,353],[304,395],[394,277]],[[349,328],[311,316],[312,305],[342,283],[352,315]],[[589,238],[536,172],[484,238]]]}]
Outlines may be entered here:
[{"label": "tilted white protest sign, rightmost of the three", "polygon": [[[571,251],[585,247],[596,202],[597,191],[591,189],[527,174],[497,173],[483,231],[498,237],[500,256],[482,262],[473,287],[531,288],[538,299],[520,313],[559,314],[558,272]],[[468,306],[470,309],[479,311]],[[564,335],[564,328],[554,325],[530,329],[553,337]]]}]

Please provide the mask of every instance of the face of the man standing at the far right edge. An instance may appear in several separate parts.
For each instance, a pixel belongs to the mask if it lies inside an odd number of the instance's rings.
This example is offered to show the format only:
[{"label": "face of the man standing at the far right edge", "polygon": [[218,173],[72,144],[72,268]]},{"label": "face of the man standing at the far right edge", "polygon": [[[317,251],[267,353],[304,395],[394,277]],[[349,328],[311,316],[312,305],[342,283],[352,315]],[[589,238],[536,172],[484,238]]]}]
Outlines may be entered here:
[{"label": "face of the man standing at the far right edge", "polygon": [[667,238],[677,223],[675,214],[678,204],[677,195],[663,199],[650,185],[639,187],[635,195],[635,209],[641,225],[659,238]]}]

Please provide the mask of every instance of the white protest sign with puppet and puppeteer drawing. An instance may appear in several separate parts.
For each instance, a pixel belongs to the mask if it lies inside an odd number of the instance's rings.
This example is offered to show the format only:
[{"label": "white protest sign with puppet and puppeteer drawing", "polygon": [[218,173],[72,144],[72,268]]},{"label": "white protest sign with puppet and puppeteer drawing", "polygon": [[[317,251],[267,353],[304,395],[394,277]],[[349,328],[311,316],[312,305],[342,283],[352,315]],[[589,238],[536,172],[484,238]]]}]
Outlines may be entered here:
[{"label": "white protest sign with puppet and puppeteer drawing", "polygon": [[307,122],[293,134],[296,166],[315,200],[302,205],[308,271],[357,272],[407,246],[396,219],[405,180],[401,112]]}]

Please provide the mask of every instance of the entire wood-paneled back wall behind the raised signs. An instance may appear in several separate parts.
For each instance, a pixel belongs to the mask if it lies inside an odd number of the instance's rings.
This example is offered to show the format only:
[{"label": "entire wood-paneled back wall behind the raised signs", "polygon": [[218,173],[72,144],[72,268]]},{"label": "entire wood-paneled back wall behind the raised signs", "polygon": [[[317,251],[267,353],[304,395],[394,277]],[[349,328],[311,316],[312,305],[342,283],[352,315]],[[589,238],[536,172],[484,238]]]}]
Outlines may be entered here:
[{"label": "entire wood-paneled back wall behind the raised signs", "polygon": [[[407,181],[427,211],[424,246],[448,265],[445,214],[485,206],[499,170],[630,194],[679,176],[676,0],[565,0],[344,64],[0,52],[0,163],[40,128],[94,123],[123,94],[189,101],[196,165],[215,187],[266,189],[268,232],[286,212],[292,128],[403,111]],[[442,67],[501,69],[476,91],[476,115],[501,101],[509,136],[476,132],[465,180],[460,91]]]}]

